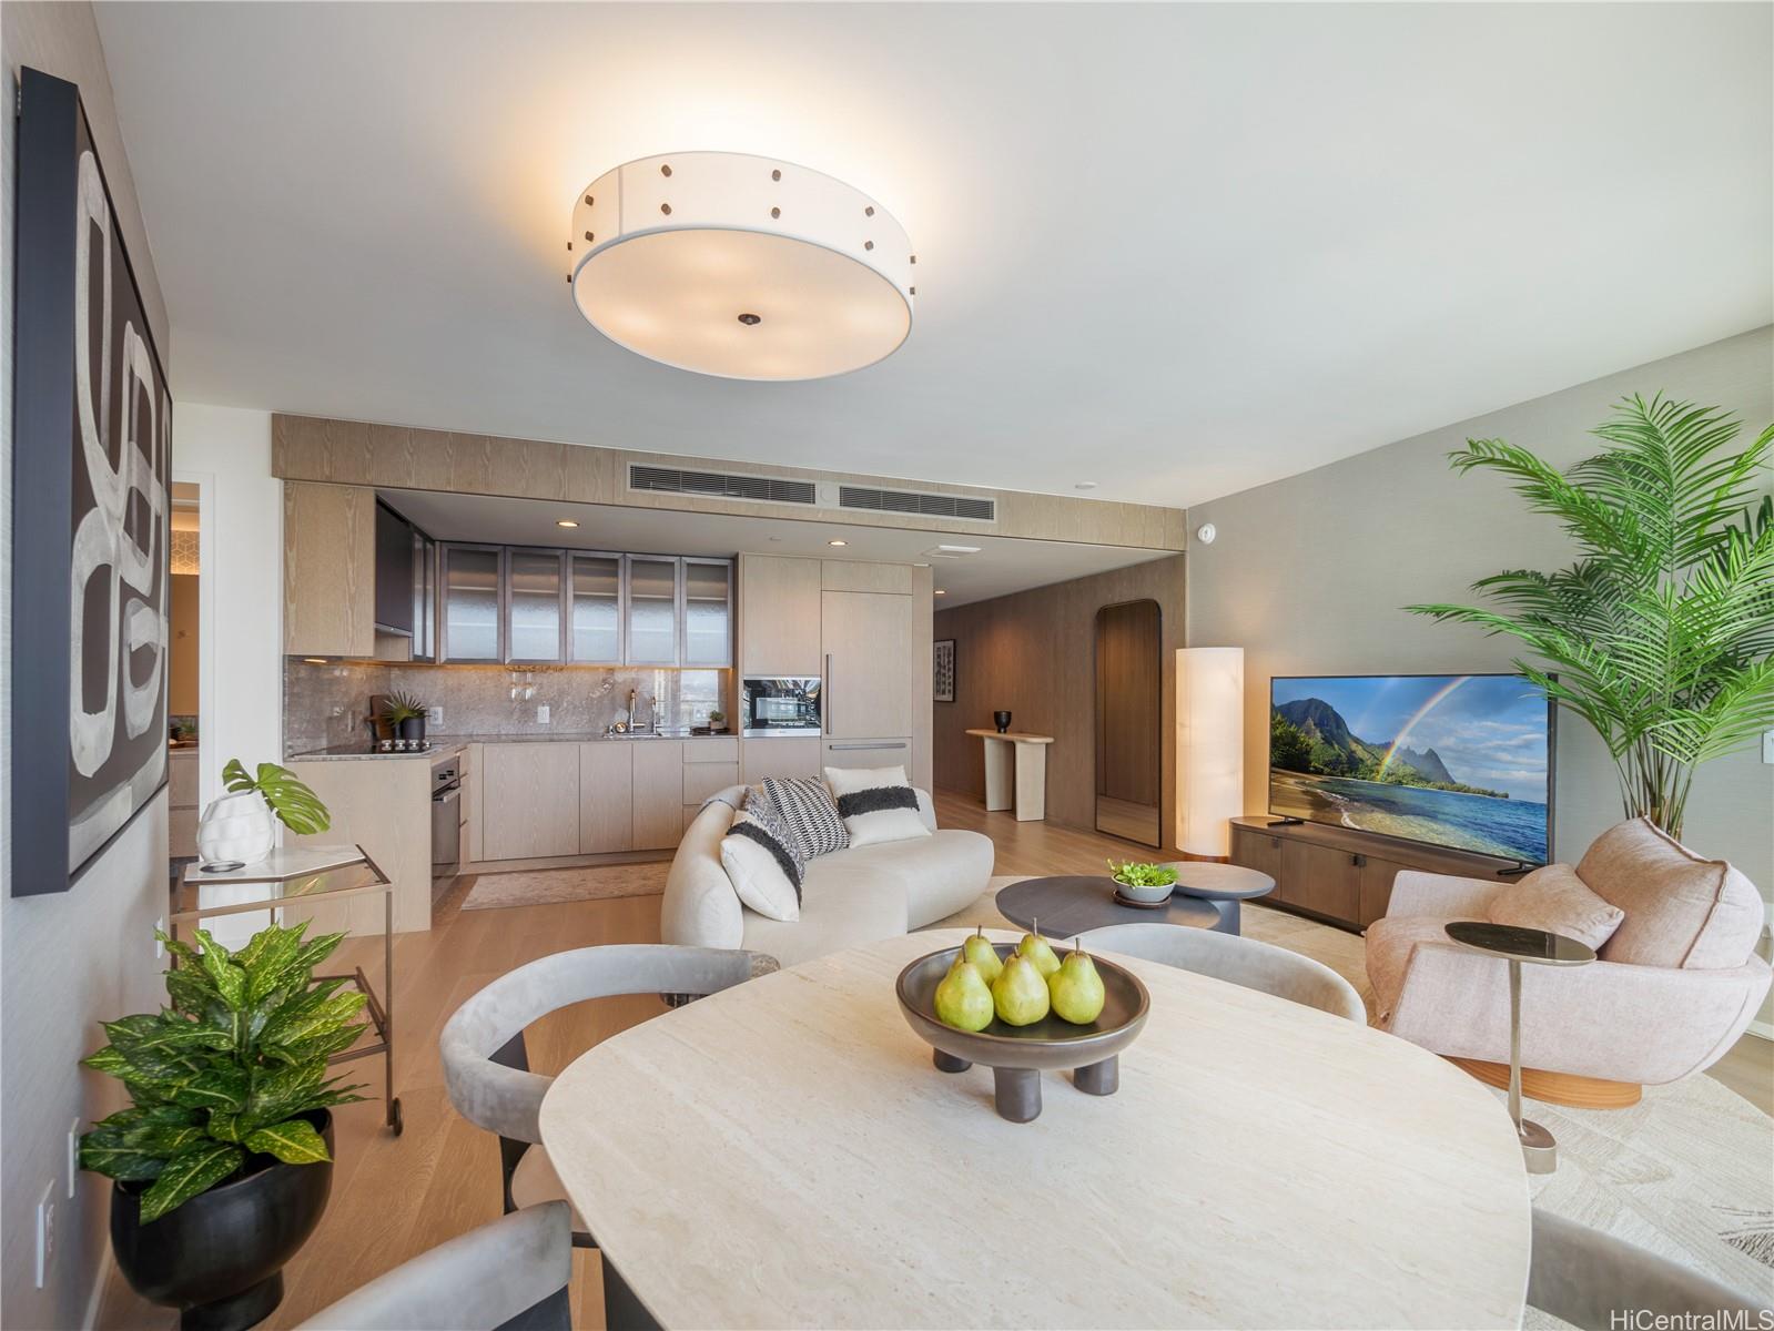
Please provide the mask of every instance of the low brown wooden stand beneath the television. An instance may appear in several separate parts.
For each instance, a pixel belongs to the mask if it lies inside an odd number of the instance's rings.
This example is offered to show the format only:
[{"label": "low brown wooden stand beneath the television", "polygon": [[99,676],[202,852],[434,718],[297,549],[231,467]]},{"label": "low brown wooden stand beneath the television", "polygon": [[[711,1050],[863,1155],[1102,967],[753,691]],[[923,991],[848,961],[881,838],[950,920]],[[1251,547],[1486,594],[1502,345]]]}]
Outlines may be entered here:
[{"label": "low brown wooden stand beneath the television", "polygon": [[1354,932],[1385,914],[1400,870],[1504,884],[1533,868],[1299,818],[1233,818],[1231,862],[1276,880],[1276,891],[1260,898],[1260,905]]}]

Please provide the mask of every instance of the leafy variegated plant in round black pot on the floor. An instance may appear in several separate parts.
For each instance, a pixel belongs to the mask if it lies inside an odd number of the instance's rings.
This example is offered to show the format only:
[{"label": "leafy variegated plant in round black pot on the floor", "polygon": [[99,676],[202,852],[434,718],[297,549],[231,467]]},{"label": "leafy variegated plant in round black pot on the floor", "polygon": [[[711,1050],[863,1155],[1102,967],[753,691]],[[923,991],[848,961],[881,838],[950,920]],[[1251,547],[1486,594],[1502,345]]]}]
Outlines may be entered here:
[{"label": "leafy variegated plant in round black pot on the floor", "polygon": [[332,1187],[332,1113],[360,1100],[326,1061],[364,1033],[365,997],[314,967],[342,933],[303,942],[273,925],[236,953],[197,930],[174,957],[170,1006],[105,1022],[82,1063],[122,1081],[130,1107],[80,1139],[112,1185],[117,1267],[184,1327],[248,1327],[284,1297],[282,1267]]}]

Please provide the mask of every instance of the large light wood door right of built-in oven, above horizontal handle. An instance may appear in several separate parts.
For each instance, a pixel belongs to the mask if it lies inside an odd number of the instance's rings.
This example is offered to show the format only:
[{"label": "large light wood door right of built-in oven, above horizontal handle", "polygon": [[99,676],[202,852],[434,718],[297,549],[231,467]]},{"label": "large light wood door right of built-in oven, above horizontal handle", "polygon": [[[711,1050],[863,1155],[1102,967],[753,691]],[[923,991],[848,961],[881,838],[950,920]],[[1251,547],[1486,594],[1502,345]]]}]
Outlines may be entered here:
[{"label": "large light wood door right of built-in oven, above horizontal handle", "polygon": [[912,596],[820,595],[827,738],[912,733]]}]

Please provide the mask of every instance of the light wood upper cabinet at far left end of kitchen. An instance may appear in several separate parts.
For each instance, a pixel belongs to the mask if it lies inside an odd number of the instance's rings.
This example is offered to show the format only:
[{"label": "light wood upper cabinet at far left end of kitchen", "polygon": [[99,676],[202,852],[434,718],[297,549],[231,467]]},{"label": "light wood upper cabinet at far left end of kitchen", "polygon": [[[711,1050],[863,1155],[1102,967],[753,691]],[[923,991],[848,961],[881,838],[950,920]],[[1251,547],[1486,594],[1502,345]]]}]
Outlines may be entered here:
[{"label": "light wood upper cabinet at far left end of kitchen", "polygon": [[284,481],[284,653],[376,655],[376,492]]}]

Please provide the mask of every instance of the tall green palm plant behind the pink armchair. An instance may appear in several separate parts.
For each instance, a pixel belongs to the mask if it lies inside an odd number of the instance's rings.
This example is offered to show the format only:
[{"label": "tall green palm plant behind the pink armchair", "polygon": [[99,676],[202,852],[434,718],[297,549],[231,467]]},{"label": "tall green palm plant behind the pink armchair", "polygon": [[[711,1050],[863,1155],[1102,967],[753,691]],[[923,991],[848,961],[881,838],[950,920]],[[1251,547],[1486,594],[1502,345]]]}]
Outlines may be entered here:
[{"label": "tall green palm plant behind the pink armchair", "polygon": [[1579,559],[1472,584],[1494,609],[1410,605],[1527,648],[1515,667],[1588,721],[1620,770],[1629,818],[1682,836],[1694,768],[1774,726],[1774,426],[1744,451],[1714,406],[1616,405],[1613,447],[1568,472],[1497,438],[1449,454],[1456,472],[1510,477],[1558,520]]}]

